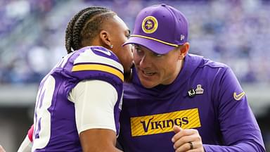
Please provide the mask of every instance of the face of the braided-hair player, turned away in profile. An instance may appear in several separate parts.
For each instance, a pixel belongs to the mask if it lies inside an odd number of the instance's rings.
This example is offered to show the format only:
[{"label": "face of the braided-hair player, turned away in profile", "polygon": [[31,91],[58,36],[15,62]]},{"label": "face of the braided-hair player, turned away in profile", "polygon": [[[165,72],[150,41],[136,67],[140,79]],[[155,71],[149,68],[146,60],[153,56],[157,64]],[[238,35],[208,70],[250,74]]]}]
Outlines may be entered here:
[{"label": "face of the braided-hair player, turned away in profile", "polygon": [[113,49],[111,49],[115,55],[119,58],[120,62],[124,67],[124,72],[130,72],[130,68],[133,61],[132,47],[130,44],[122,46],[124,42],[127,42],[127,39],[130,35],[130,30],[124,21],[119,18],[117,15],[111,20],[110,30],[111,35],[111,44],[113,44]]}]

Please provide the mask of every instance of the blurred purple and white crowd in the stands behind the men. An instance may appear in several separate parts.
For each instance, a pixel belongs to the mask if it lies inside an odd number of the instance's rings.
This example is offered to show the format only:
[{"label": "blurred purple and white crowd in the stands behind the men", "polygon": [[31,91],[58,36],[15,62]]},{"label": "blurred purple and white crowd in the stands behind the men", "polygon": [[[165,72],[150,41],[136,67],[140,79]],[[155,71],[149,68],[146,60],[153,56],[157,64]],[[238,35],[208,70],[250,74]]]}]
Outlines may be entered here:
[{"label": "blurred purple and white crowd in the stands behind the men", "polygon": [[0,84],[39,82],[65,56],[65,28],[80,9],[107,6],[132,31],[141,8],[160,3],[188,18],[191,53],[230,65],[240,82],[270,83],[270,1],[1,0]]}]

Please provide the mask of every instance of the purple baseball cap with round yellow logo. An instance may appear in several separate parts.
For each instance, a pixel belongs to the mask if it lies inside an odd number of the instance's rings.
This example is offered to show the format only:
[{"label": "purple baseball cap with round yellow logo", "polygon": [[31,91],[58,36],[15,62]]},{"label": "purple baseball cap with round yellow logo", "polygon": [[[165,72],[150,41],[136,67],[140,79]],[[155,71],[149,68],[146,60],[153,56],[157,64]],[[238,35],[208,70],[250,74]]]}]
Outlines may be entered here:
[{"label": "purple baseball cap with round yellow logo", "polygon": [[126,44],[139,44],[165,54],[187,42],[188,22],[183,13],[167,4],[143,8],[136,17],[134,32]]}]

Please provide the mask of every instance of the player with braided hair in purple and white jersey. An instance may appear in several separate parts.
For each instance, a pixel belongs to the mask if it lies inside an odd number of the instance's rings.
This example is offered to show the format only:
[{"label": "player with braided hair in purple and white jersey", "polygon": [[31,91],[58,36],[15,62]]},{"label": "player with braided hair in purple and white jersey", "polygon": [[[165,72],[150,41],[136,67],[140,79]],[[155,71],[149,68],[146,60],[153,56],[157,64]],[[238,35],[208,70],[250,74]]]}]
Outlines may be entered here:
[{"label": "player with braided hair in purple and white jersey", "polygon": [[[39,86],[32,151],[119,151],[122,87],[132,65],[131,46],[122,44],[129,34],[107,8],[85,8],[70,20],[68,55]],[[29,146],[27,135],[18,151]]]}]

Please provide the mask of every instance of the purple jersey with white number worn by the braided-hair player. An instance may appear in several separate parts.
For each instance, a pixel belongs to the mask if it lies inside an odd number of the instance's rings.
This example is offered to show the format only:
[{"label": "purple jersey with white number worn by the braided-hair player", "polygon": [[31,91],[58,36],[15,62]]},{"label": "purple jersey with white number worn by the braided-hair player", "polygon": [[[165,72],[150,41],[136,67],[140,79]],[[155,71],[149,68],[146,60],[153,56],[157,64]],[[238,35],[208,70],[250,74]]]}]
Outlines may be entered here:
[{"label": "purple jersey with white number worn by the braided-hair player", "polygon": [[41,81],[34,113],[34,151],[82,151],[75,104],[68,99],[72,88],[82,80],[102,80],[115,87],[114,115],[118,134],[123,67],[113,52],[101,46],[89,46],[65,56]]}]

